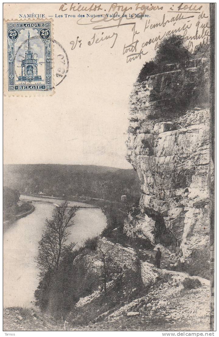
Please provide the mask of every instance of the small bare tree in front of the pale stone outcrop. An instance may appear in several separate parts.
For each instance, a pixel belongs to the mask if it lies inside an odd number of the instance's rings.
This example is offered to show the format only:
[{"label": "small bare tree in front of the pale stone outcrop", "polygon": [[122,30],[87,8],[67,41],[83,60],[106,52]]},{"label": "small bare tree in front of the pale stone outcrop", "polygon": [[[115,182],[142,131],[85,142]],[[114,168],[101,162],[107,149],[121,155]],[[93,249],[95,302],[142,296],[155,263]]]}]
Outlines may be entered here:
[{"label": "small bare tree in front of the pale stone outcrop", "polygon": [[121,251],[110,241],[98,237],[96,243],[95,262],[91,262],[88,271],[91,271],[103,283],[104,294],[107,295],[106,283],[119,272]]}]

